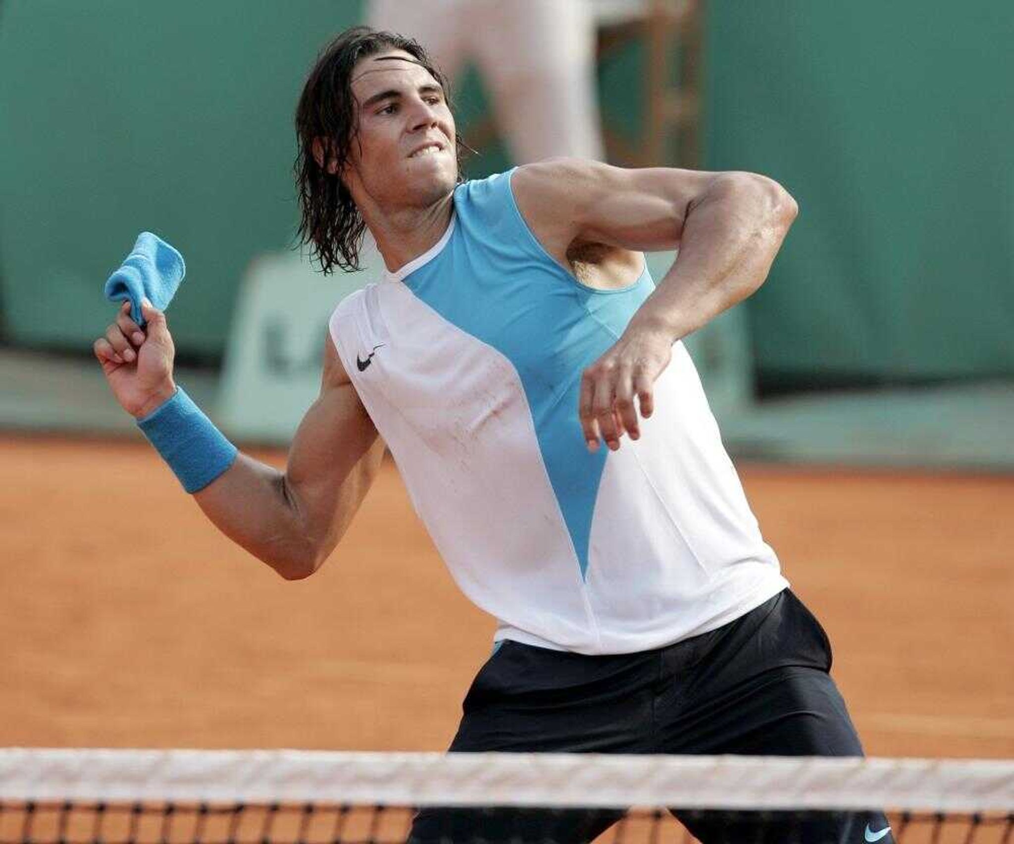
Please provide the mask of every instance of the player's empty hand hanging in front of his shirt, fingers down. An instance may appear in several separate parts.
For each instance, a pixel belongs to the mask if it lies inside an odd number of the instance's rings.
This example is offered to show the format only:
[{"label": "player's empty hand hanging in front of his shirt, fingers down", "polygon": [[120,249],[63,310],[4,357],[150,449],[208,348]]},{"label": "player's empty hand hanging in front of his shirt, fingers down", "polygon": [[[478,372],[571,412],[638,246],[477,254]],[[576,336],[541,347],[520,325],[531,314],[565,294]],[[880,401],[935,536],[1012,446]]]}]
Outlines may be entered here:
[{"label": "player's empty hand hanging in front of his shirt, fingers down", "polygon": [[[654,410],[655,379],[672,357],[672,338],[661,330],[629,326],[623,337],[581,374],[578,415],[589,451],[604,439],[613,451],[620,438],[641,436],[640,415]],[[637,406],[634,397],[637,396]]]}]

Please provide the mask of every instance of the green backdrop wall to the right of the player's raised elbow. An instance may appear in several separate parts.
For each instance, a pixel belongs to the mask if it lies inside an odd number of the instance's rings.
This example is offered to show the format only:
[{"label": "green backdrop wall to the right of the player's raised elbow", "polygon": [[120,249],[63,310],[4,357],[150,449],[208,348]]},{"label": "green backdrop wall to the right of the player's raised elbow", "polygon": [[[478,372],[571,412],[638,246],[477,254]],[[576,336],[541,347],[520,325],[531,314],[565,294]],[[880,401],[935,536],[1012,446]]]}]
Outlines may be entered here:
[{"label": "green backdrop wall to the right of the player's raised elbow", "polygon": [[709,7],[709,165],[801,208],[748,308],[760,374],[1014,374],[1014,4]]}]

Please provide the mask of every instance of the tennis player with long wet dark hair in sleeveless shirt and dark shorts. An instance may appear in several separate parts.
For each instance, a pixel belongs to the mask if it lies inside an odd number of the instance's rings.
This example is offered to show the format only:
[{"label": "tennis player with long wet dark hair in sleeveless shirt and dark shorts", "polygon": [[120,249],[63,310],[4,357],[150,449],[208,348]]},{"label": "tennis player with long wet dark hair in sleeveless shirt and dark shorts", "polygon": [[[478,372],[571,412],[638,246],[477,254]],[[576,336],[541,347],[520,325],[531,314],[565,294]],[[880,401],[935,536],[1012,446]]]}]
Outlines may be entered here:
[{"label": "tennis player with long wet dark hair in sleeveless shirt and dark shorts", "polygon": [[[363,27],[296,112],[323,270],[369,229],[387,272],[339,304],[284,472],[172,378],[172,338],[125,307],[94,351],[208,517],[307,577],[390,449],[461,589],[499,621],[452,751],[859,756],[827,637],[788,589],[681,338],[765,280],[796,216],[745,172],[549,160],[461,182],[444,79]],[[656,285],[642,251],[678,257]],[[417,841],[591,840],[612,813],[428,811]],[[783,841],[710,816],[702,841]],[[802,841],[889,841],[880,815]]]}]

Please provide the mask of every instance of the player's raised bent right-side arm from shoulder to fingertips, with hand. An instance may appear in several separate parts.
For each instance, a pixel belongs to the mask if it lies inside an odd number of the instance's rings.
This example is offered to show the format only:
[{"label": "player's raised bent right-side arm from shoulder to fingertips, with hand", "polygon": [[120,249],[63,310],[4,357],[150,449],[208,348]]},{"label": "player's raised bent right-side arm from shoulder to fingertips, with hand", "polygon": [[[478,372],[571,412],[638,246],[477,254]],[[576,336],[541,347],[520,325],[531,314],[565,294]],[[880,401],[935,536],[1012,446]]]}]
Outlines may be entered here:
[{"label": "player's raised bent right-side arm from shoulder to fingertips, with hand", "polygon": [[747,172],[622,169],[557,159],[515,172],[522,215],[566,263],[585,243],[619,251],[679,249],[672,268],[624,336],[582,375],[579,414],[588,447],[640,435],[652,385],[672,344],[748,296],[768,276],[797,208],[778,183]]}]

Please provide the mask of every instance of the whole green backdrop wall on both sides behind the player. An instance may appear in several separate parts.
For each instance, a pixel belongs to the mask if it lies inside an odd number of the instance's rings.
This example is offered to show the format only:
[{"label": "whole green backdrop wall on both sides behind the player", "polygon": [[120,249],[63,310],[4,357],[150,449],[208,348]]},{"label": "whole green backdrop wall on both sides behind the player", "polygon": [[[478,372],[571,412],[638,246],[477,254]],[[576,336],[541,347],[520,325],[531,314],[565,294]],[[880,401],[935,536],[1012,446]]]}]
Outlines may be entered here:
[{"label": "whole green backdrop wall on both sides behind the player", "polygon": [[[767,379],[1014,374],[1014,5],[710,0],[707,165],[802,213],[749,302]],[[296,221],[292,110],[358,0],[7,0],[0,9],[0,314],[87,349],[142,228],[188,259],[178,347],[214,357],[238,282]],[[600,70],[636,137],[641,55]],[[485,109],[474,76],[461,123]],[[495,146],[472,174],[500,168]]]}]

